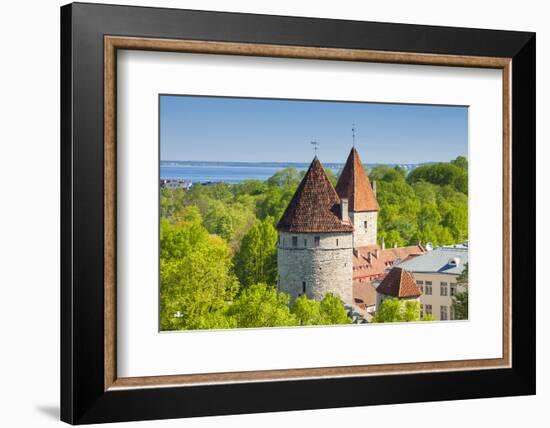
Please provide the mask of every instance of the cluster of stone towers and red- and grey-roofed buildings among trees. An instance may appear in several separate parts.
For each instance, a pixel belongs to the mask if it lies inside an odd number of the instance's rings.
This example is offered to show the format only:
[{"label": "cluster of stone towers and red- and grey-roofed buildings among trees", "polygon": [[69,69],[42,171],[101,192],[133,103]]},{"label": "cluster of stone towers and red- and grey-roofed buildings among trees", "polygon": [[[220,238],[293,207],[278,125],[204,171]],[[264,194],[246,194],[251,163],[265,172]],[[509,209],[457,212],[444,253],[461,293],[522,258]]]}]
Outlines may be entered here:
[{"label": "cluster of stone towers and red- and grey-roofed buildings among trees", "polygon": [[388,297],[419,300],[423,314],[453,319],[467,246],[385,248],[377,240],[378,209],[376,183],[355,148],[336,187],[315,156],[277,224],[278,289],[292,300],[333,293],[366,319]]}]

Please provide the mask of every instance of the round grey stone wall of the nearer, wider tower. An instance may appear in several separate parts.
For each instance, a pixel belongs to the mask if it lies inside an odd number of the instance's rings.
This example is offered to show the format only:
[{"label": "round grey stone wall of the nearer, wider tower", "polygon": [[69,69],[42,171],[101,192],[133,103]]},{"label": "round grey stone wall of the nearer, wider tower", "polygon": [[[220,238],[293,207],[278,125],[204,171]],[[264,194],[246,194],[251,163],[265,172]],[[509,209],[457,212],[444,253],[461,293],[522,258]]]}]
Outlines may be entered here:
[{"label": "round grey stone wall of the nearer, wider tower", "polygon": [[292,300],[302,294],[322,300],[330,292],[352,303],[352,257],[351,232],[279,232],[278,288]]}]

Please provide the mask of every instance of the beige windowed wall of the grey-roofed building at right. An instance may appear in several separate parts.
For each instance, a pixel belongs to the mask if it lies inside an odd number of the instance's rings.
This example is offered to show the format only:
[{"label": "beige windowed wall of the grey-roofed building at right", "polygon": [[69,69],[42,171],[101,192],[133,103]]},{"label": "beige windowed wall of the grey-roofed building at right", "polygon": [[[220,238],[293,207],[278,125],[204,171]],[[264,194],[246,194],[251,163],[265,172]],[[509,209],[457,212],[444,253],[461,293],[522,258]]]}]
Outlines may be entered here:
[{"label": "beige windowed wall of the grey-roofed building at right", "polygon": [[454,290],[453,293],[465,291],[464,286],[457,284],[458,275],[422,272],[411,272],[411,274],[416,285],[422,290],[420,305],[423,314],[431,312],[436,320],[454,319],[451,288]]}]

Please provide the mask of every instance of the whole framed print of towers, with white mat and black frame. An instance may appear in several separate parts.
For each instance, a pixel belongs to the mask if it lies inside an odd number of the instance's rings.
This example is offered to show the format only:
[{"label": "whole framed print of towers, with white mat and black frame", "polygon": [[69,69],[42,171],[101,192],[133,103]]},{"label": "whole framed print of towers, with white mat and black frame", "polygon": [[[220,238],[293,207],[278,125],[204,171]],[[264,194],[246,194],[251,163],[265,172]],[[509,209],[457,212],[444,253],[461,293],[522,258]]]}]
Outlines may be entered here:
[{"label": "whole framed print of towers, with white mat and black frame", "polygon": [[76,3],[61,53],[62,420],[535,393],[533,33]]}]

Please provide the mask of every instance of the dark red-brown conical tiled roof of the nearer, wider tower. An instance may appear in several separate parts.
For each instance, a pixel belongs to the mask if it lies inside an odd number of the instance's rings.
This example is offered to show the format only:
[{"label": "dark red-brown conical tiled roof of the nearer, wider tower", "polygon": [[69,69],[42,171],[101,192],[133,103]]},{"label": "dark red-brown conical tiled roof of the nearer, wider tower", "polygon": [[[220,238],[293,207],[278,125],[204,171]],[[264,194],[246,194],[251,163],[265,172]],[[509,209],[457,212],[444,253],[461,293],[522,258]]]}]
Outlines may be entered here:
[{"label": "dark red-brown conical tiled roof of the nearer, wider tower", "polygon": [[277,229],[284,232],[352,232],[341,219],[340,198],[317,156],[298,186]]}]

